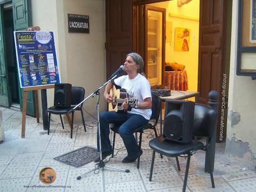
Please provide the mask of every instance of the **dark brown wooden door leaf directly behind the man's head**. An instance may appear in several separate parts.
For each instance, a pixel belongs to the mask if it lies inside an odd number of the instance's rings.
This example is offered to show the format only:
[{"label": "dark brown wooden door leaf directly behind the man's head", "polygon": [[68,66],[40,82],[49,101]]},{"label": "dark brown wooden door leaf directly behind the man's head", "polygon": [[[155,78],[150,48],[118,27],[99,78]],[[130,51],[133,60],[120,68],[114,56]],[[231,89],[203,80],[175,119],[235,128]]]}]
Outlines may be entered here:
[{"label": "dark brown wooden door leaf directly behind the man's head", "polygon": [[106,0],[106,77],[132,52],[132,1]]}]

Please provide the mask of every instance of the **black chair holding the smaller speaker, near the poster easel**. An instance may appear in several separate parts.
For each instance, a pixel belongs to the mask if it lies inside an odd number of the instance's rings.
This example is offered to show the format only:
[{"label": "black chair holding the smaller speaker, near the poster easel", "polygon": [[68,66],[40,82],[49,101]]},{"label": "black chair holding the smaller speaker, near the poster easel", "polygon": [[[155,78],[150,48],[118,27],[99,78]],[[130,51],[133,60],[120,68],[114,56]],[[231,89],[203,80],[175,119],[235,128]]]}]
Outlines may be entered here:
[{"label": "black chair holding the smaller speaker, near the poster easel", "polygon": [[[60,115],[61,118],[61,125],[62,128],[64,129],[63,121],[61,115],[68,114],[68,112],[73,109],[77,104],[80,104],[80,102],[85,98],[85,89],[83,87],[72,87],[71,88],[71,107],[57,107],[57,106],[52,106],[47,109],[49,116],[48,116],[48,121],[49,121],[49,126],[48,126],[48,135],[50,134],[50,120],[51,120],[51,114],[55,115]],[[85,128],[85,119],[83,118],[83,111],[82,111],[82,106],[78,106],[75,110],[80,110],[81,111],[81,116],[82,116],[82,121],[83,121],[83,127]],[[71,139],[72,139],[72,134],[73,134],[73,119],[74,119],[74,112],[75,110],[72,110],[72,117],[71,117]]]}]

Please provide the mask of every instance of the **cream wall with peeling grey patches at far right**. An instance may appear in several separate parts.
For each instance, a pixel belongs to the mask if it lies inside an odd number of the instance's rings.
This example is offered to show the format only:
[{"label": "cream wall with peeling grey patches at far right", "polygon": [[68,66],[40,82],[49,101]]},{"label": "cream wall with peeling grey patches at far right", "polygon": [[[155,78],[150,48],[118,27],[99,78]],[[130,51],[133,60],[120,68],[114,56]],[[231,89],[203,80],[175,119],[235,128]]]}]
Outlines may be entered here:
[{"label": "cream wall with peeling grey patches at far right", "polygon": [[236,75],[238,0],[233,0],[232,12],[226,151],[234,156],[252,159],[256,157],[256,81]]}]

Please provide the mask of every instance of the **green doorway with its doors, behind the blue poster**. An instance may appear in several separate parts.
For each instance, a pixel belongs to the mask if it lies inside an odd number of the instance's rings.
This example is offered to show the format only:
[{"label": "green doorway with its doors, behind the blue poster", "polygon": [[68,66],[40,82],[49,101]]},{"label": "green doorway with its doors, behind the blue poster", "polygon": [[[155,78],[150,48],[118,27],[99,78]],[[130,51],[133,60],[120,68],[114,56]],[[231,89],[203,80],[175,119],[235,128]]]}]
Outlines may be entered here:
[{"label": "green doorway with its doors, behind the blue poster", "polygon": [[[23,90],[19,87],[13,31],[31,26],[29,0],[0,1],[0,105],[22,110]],[[28,91],[27,115],[36,116],[35,94]]]}]

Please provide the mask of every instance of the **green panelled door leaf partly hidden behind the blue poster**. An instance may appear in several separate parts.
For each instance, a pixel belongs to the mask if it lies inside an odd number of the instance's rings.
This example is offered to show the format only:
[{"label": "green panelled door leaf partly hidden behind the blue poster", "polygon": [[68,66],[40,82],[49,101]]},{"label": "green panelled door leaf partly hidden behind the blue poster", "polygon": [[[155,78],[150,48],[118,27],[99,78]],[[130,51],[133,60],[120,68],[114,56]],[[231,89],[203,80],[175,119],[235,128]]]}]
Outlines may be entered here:
[{"label": "green panelled door leaf partly hidden behind the blue poster", "polygon": [[[31,26],[30,0],[12,0],[13,23],[15,31],[26,31]],[[18,64],[17,64],[18,65]],[[23,104],[23,90],[19,88],[19,104]],[[36,116],[35,93],[28,91],[27,94],[27,115]]]}]

